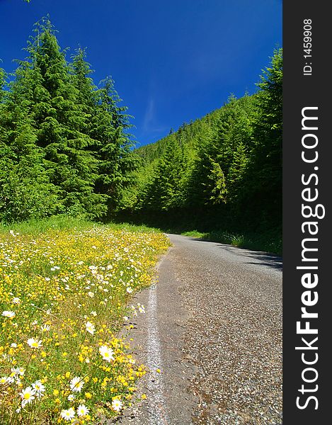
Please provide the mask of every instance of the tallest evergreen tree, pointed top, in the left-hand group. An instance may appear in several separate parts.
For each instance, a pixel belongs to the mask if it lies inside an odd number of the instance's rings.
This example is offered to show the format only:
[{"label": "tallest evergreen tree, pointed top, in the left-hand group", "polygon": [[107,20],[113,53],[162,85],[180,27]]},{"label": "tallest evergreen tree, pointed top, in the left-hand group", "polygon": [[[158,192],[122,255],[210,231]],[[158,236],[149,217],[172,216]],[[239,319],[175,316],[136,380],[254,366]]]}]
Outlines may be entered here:
[{"label": "tallest evergreen tree, pointed top, in the left-hand group", "polygon": [[93,193],[97,164],[87,149],[93,141],[83,132],[88,115],[82,111],[79,91],[71,84],[64,52],[48,18],[37,23],[27,50],[28,65],[23,66],[30,67],[33,83],[27,79],[18,83],[26,86],[25,100],[31,103],[45,168],[59,188],[59,212],[98,217],[105,213],[105,206],[103,196]]}]

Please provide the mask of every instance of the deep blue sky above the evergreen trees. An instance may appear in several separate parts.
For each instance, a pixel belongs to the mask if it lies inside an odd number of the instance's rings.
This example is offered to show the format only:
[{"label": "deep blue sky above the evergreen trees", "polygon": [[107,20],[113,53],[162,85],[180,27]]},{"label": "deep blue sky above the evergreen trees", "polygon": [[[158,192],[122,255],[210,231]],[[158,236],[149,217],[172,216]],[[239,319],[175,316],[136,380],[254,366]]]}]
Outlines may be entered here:
[{"label": "deep blue sky above the evergreen trees", "polygon": [[62,48],[87,47],[96,83],[112,75],[137,145],[256,91],[282,46],[280,0],[0,0],[7,72],[47,13]]}]

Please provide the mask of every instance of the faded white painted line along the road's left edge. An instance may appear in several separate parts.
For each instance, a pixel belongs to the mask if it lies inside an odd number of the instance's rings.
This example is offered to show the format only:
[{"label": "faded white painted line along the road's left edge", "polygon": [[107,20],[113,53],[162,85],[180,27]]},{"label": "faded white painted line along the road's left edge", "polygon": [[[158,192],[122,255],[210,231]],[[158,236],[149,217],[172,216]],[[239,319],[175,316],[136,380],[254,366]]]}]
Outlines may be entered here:
[{"label": "faded white painted line along the road's left edge", "polygon": [[[159,271],[156,267],[156,273]],[[164,379],[156,369],[161,367],[161,343],[159,338],[158,322],[156,317],[157,295],[156,285],[152,283],[149,289],[148,300],[148,336],[147,336],[147,366],[151,370],[151,378],[147,385],[149,389],[149,423],[151,425],[166,425],[168,423],[166,415],[166,400],[164,397]]]}]

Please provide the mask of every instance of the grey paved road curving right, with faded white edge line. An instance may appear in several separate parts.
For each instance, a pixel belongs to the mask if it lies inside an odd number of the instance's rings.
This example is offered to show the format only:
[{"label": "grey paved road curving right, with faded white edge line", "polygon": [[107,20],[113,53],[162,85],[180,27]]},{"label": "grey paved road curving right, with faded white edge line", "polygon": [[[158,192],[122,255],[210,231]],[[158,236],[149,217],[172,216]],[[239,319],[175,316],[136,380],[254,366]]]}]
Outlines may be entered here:
[{"label": "grey paved road curving right, with faded white edge line", "polygon": [[281,259],[169,237],[159,282],[133,300],[147,400],[120,424],[282,424]]}]

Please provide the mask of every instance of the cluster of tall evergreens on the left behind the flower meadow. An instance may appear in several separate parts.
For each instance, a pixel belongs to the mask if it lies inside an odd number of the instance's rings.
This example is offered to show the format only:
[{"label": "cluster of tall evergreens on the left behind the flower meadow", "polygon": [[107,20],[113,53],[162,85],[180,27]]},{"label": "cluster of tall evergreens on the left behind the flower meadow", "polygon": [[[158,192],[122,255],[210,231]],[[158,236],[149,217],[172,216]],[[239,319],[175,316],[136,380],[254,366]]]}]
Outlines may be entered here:
[{"label": "cluster of tall evergreens on the left behind the flower meadow", "polygon": [[48,17],[13,74],[0,69],[0,220],[100,219],[132,182],[130,115],[114,81],[99,87],[86,50],[67,60]]}]

